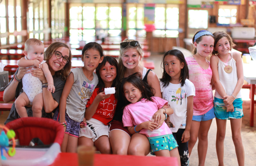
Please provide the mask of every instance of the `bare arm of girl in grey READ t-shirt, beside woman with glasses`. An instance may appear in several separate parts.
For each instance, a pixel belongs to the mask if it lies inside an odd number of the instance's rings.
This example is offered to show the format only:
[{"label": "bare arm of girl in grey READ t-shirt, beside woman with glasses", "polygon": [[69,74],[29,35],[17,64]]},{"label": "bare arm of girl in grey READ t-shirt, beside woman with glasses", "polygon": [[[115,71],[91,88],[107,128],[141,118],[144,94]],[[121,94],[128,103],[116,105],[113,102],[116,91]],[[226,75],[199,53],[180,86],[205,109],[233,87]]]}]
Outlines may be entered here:
[{"label": "bare arm of girl in grey READ t-shirt, beside woman with glasses", "polygon": [[74,74],[71,72],[68,75],[68,79],[66,80],[66,84],[64,86],[64,89],[62,91],[61,97],[60,97],[60,123],[65,122],[65,113],[66,113],[66,106],[67,106],[67,98],[70,93],[70,90],[74,84]]}]

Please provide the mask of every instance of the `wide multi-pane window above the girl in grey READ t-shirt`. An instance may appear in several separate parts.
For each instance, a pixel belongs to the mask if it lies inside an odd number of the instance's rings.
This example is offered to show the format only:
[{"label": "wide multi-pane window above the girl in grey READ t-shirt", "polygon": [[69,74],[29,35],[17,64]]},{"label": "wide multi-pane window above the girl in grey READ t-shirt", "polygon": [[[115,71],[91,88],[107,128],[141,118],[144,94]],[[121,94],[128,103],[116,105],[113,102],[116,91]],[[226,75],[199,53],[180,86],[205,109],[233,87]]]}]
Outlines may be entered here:
[{"label": "wide multi-pane window above the girl in grey READ t-shirt", "polygon": [[119,36],[122,28],[121,4],[76,4],[69,9],[70,39],[94,41]]}]

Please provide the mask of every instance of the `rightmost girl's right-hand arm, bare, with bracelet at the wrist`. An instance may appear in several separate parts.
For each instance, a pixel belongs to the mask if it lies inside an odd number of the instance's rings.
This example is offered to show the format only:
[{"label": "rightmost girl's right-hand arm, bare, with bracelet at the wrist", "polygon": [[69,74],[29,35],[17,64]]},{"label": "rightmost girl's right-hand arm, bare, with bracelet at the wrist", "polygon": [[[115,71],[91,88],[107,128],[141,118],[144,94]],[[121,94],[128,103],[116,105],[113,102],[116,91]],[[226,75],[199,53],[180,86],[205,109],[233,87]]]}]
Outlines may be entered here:
[{"label": "rightmost girl's right-hand arm, bare, with bracelet at the wrist", "polygon": [[234,52],[232,56],[233,56],[233,59],[236,61],[237,82],[236,82],[236,87],[232,93],[234,97],[232,95],[231,96],[225,95],[223,97],[224,98],[223,102],[226,105],[229,105],[234,102],[235,97],[237,96],[237,94],[239,93],[239,91],[241,90],[244,84],[244,71],[243,71],[243,62],[242,62],[241,55],[238,52]]}]

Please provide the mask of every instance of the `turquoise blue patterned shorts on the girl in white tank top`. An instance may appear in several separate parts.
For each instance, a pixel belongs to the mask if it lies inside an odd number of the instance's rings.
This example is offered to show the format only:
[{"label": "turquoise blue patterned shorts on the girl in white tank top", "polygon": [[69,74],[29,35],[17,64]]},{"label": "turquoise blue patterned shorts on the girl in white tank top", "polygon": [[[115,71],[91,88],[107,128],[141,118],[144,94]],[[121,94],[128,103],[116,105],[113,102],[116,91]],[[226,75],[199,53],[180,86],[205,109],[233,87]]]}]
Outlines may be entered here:
[{"label": "turquoise blue patterned shorts on the girl in white tank top", "polygon": [[234,102],[233,102],[234,111],[227,112],[227,108],[225,107],[223,99],[214,97],[215,116],[218,119],[230,119],[230,118],[240,119],[244,116],[242,104],[243,104],[242,98],[238,98],[238,99],[234,100]]}]

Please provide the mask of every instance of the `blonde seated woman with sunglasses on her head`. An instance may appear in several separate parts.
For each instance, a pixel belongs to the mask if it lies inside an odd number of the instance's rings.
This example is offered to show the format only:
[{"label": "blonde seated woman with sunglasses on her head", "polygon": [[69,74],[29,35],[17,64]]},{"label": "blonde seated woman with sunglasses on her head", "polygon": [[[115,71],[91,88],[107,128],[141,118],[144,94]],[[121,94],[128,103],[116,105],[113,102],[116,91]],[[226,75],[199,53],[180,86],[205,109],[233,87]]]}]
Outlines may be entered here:
[{"label": "blonde seated woman with sunglasses on her head", "polygon": [[[141,79],[154,89],[154,96],[162,97],[158,77],[152,70],[148,70],[142,65],[143,51],[140,43],[135,40],[125,39],[124,42],[120,43],[120,48],[118,62],[120,79],[139,72]],[[122,89],[117,88],[118,103],[116,113],[109,127],[109,140],[113,154],[148,155],[150,152],[150,144],[147,137],[140,133],[131,135],[127,127],[124,127],[122,123],[123,107],[125,103],[124,100],[122,100]],[[154,117],[152,121],[158,123],[157,128],[159,128],[164,122],[165,115],[163,111],[160,110],[156,111]]]}]

